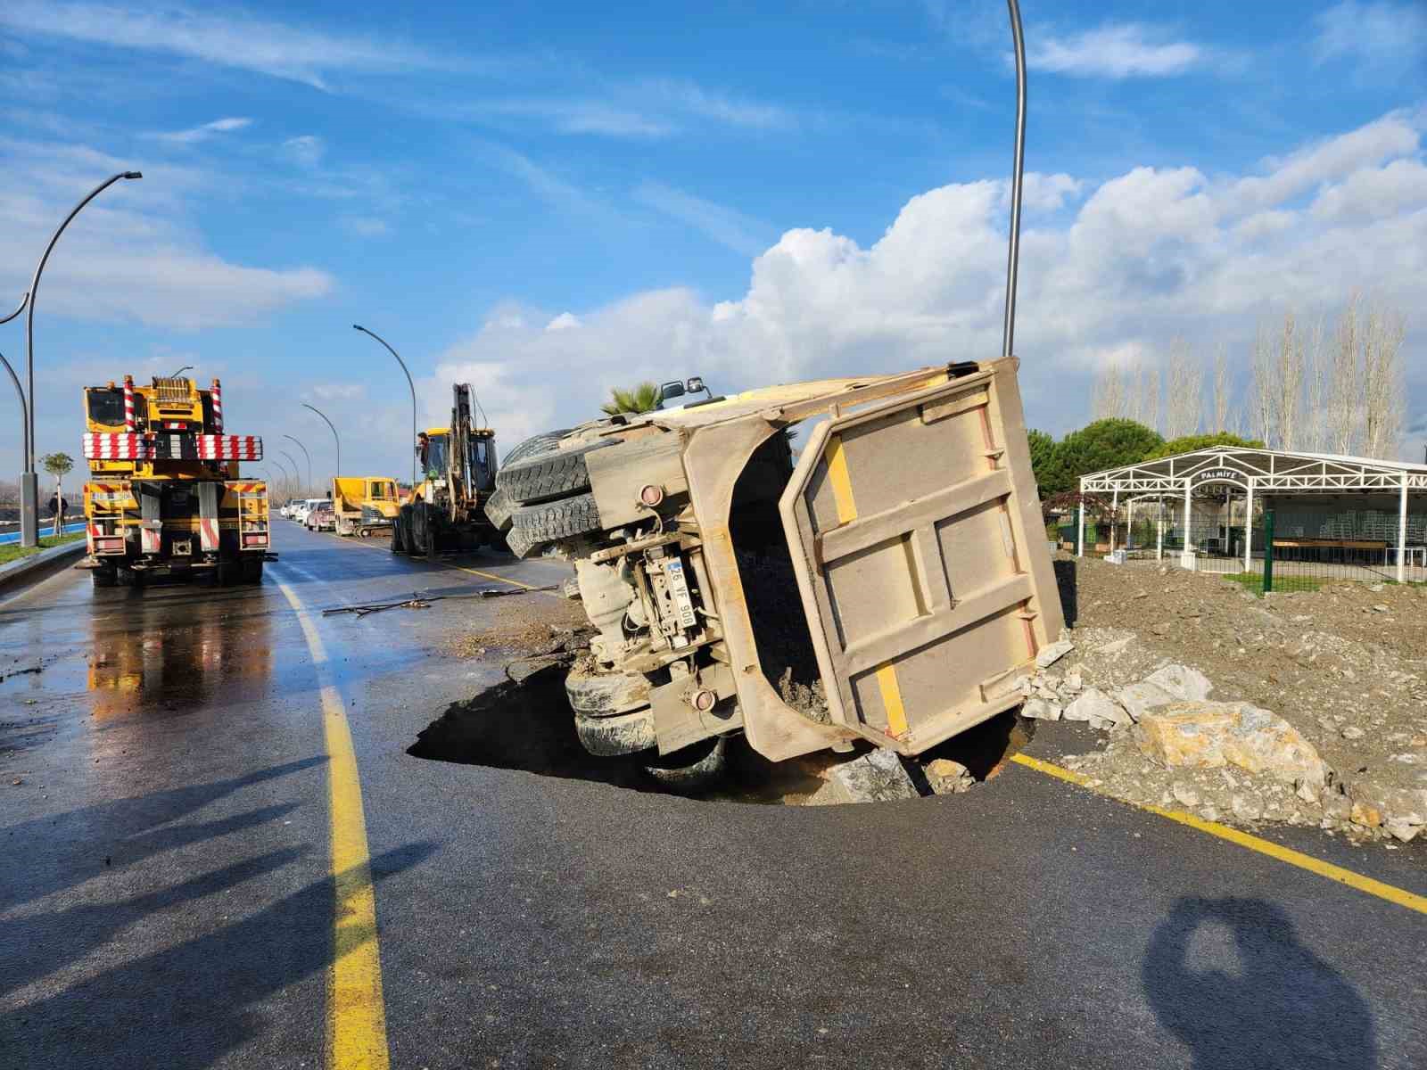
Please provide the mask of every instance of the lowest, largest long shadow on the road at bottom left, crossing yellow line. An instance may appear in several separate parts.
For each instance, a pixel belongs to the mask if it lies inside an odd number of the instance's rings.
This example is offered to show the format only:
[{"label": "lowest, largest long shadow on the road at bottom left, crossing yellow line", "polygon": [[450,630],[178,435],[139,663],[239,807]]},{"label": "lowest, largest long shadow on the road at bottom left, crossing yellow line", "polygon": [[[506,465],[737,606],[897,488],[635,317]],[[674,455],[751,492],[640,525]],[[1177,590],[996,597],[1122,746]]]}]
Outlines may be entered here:
[{"label": "lowest, largest long shadow on the road at bottom left, crossing yellow line", "polygon": [[[418,842],[378,855],[372,880],[435,849]],[[198,1070],[257,1041],[243,1066],[291,1064],[295,1039],[305,1050],[321,1036],[321,987],[311,1002],[288,989],[332,962],[334,880],[0,1016],[0,1051],[13,1044],[36,1067]]]}]

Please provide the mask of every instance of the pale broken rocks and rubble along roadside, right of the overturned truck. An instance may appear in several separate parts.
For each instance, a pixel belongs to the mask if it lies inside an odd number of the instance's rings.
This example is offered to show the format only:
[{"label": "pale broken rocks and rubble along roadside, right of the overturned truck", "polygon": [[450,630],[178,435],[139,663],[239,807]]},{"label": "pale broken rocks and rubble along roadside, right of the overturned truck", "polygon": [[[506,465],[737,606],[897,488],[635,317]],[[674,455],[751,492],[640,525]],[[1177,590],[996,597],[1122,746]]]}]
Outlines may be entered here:
[{"label": "pale broken rocks and rubble along roadside, right of the overturned truck", "polygon": [[[1284,822],[1354,837],[1407,842],[1427,827],[1427,775],[1404,783],[1370,766],[1334,769],[1284,718],[1212,698],[1203,672],[1157,655],[1133,632],[1080,629],[1073,642],[1042,651],[1036,673],[1017,686],[1023,716],[1107,733],[1103,750],[1060,759],[1107,795],[1232,825]],[[1427,736],[1400,742],[1411,748],[1404,765],[1427,758]]]}]

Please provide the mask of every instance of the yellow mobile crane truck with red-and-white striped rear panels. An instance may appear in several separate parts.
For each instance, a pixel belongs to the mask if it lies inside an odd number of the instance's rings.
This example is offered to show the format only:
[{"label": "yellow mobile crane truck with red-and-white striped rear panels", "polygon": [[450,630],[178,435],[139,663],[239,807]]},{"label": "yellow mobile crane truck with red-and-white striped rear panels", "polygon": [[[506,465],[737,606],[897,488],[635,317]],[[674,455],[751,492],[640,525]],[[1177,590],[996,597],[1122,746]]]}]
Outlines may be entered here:
[{"label": "yellow mobile crane truck with red-and-white striped rear panels", "polygon": [[77,568],[94,586],[140,586],[156,575],[208,575],[220,585],[263,579],[270,552],[267,484],[244,479],[263,459],[257,435],[223,429],[218,379],[154,377],[84,389],[84,524]]}]

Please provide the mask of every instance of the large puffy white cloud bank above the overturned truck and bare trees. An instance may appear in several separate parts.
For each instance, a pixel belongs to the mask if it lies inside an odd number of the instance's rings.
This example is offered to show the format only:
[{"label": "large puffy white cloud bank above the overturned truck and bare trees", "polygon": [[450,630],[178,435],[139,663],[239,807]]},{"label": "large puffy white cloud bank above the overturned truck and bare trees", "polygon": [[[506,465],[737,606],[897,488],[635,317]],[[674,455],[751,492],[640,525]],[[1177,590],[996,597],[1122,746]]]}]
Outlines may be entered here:
[{"label": "large puffy white cloud bank above the overturned truck and bare trees", "polygon": [[[1027,227],[1016,348],[1032,421],[1053,431],[1083,422],[1089,381],[1103,361],[1153,360],[1176,335],[1203,354],[1229,341],[1241,360],[1260,317],[1331,310],[1354,290],[1408,314],[1407,367],[1416,370],[1420,411],[1420,153],[1408,140],[1394,143],[1391,158],[1364,148],[1394,121],[1293,153],[1251,180],[1133,168],[1089,190],[1070,220]],[[1306,174],[1331,211],[1297,204]],[[1364,210],[1387,203],[1384,184],[1397,191],[1391,214]],[[919,194],[870,245],[832,230],[791,230],[753,258],[748,290],[733,301],[646,291],[582,311],[579,330],[558,331],[545,330],[548,312],[507,305],[442,357],[437,381],[465,375],[485,384],[487,408],[498,428],[508,421],[514,434],[502,438],[514,444],[589,418],[609,387],[645,378],[701,374],[723,392],[995,357],[1005,187],[979,181]],[[1069,193],[1069,183],[1047,180],[1043,188]],[[551,391],[551,382],[561,388]]]}]

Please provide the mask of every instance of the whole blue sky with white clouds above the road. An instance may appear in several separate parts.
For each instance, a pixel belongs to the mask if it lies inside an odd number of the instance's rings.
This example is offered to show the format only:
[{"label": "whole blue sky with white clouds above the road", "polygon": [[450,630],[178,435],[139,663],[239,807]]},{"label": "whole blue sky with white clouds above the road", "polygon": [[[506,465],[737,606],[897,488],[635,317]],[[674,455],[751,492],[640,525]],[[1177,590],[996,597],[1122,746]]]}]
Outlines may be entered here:
[{"label": "whole blue sky with white clouds above the road", "polygon": [[[1016,352],[1032,425],[1107,362],[1360,292],[1407,315],[1427,438],[1427,3],[1025,0]],[[224,382],[227,429],[410,465],[471,382],[498,442],[611,387],[995,358],[1015,80],[1000,0],[0,4],[0,314],[39,451],[80,388]],[[21,321],[0,352],[24,361]],[[23,375],[23,368],[21,368]],[[0,478],[19,472],[0,384]]]}]

